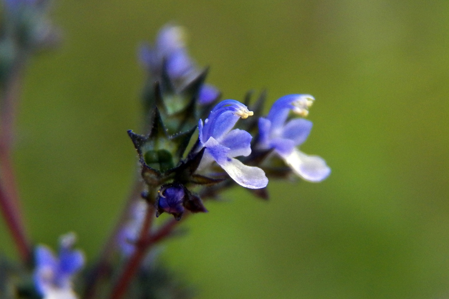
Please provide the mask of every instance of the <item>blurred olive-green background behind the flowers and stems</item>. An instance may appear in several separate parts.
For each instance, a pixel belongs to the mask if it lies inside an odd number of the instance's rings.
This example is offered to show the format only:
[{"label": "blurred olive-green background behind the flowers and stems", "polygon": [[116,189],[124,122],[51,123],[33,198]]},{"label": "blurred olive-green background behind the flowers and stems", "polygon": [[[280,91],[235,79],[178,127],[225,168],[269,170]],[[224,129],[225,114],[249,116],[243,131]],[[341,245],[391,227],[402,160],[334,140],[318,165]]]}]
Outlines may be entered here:
[{"label": "blurred olive-green background behind the flowers and stems", "polygon": [[136,48],[175,21],[225,98],[314,95],[301,148],[332,168],[188,219],[163,258],[199,297],[449,296],[449,1],[58,0],[53,16],[64,41],[27,70],[15,151],[34,239],[74,230],[97,255],[136,172]]}]

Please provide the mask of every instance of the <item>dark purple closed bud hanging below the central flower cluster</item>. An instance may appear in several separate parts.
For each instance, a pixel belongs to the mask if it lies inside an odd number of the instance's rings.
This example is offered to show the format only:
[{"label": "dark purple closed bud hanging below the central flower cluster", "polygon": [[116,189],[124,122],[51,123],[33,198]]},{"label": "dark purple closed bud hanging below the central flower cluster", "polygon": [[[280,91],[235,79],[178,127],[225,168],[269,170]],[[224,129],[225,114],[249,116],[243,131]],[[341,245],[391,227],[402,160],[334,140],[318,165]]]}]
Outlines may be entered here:
[{"label": "dark purple closed bud hanging below the central flower cluster", "polygon": [[180,220],[185,209],[194,213],[207,212],[200,197],[192,195],[181,183],[163,185],[158,193],[156,216],[167,212]]}]

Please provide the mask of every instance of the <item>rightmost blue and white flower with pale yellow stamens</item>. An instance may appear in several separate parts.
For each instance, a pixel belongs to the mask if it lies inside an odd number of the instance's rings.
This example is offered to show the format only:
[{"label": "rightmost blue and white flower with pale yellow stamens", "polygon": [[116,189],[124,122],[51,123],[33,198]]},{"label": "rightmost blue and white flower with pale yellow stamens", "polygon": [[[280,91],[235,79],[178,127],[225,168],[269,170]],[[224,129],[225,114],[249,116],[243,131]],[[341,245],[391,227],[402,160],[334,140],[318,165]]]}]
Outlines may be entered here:
[{"label": "rightmost blue and white flower with pale yellow stamens", "polygon": [[290,111],[307,116],[315,99],[309,94],[289,94],[279,98],[266,118],[259,118],[259,148],[273,148],[292,170],[308,181],[321,181],[330,174],[323,158],[307,155],[297,146],[304,143],[312,122],[303,118],[287,121]]}]

